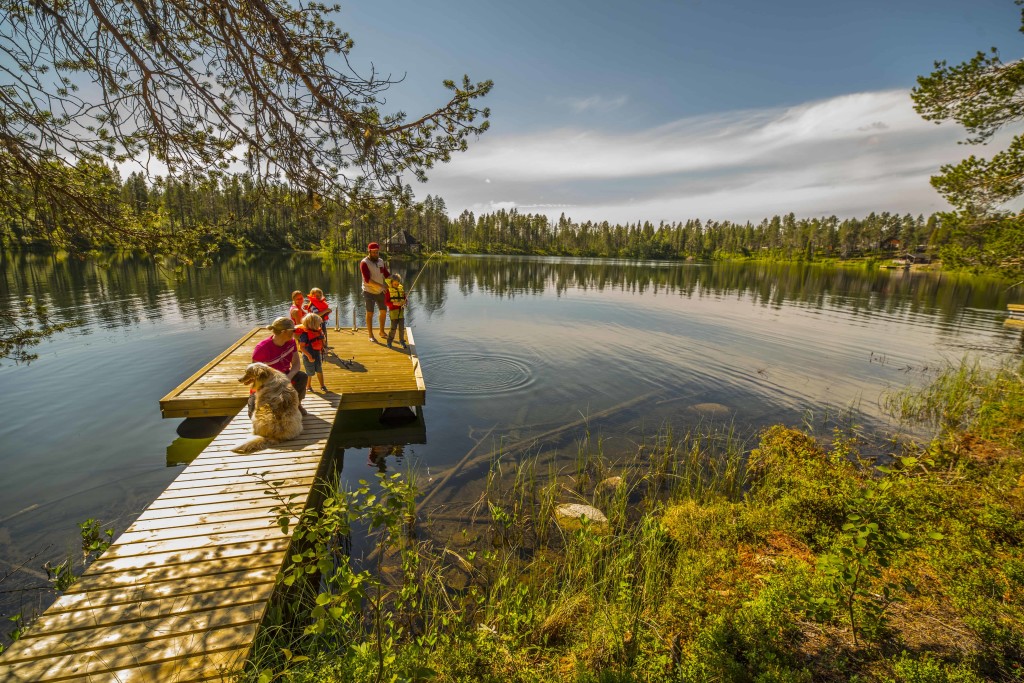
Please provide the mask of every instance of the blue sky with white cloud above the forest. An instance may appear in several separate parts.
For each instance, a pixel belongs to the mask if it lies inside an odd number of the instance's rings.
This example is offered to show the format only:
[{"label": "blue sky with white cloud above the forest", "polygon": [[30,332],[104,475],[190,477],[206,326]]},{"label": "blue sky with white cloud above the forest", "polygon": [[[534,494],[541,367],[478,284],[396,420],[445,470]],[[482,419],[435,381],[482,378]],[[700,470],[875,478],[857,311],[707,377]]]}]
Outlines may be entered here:
[{"label": "blue sky with white cloud above the forest", "polygon": [[490,129],[418,200],[612,223],[946,210],[929,176],[1009,137],[957,144],[910,89],[937,59],[1024,51],[1013,0],[359,0],[338,23],[356,69],[403,79],[387,112],[495,82]]}]

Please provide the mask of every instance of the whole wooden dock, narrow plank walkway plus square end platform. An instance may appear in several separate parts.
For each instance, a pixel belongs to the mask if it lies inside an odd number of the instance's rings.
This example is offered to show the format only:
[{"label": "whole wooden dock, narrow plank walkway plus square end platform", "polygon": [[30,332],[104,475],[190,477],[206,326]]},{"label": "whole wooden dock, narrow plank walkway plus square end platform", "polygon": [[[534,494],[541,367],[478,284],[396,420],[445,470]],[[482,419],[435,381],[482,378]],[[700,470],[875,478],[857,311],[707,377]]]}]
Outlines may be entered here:
[{"label": "whole wooden dock, narrow plank walkway plus square end platform", "polygon": [[[371,344],[365,331],[330,331],[332,346],[355,362],[351,370],[337,361],[325,369],[333,392],[306,394],[303,433],[256,454],[232,453],[251,433],[240,369],[265,334],[248,333],[161,401],[165,416],[238,415],[0,654],[0,680],[234,680],[291,547],[266,481],[282,481],[278,490],[295,496],[295,509],[315,504],[313,484],[338,444],[374,440],[374,412],[358,409],[422,405],[425,398],[412,344],[406,353]],[[339,414],[346,408],[356,410]],[[422,413],[394,436],[425,439]]]}]

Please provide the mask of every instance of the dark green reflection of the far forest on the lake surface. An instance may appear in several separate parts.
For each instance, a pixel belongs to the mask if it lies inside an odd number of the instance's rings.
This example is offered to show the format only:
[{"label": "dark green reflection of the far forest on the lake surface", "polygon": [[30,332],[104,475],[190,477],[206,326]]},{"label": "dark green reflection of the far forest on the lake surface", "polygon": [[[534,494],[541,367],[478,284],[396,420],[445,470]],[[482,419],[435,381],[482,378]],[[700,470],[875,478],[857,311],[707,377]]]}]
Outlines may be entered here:
[{"label": "dark green reflection of the far forest on the lake surface", "polygon": [[[711,265],[666,261],[452,257],[424,268],[420,262],[391,261],[427,314],[443,310],[453,294],[482,292],[499,298],[572,291],[631,295],[681,294],[688,298],[737,295],[780,307],[829,305],[852,312],[906,314],[935,312],[945,321],[976,309],[1006,311],[1020,301],[1020,286],[996,280],[931,272],[821,267],[806,263],[722,262]],[[422,269],[422,272],[421,272]],[[95,260],[60,260],[52,255],[0,254],[2,307],[26,296],[44,301],[60,319],[82,316],[87,326],[119,330],[143,321],[185,317],[200,329],[275,316],[295,287],[319,286],[337,302],[344,325],[361,310],[357,261],[317,259],[306,254],[245,254],[209,268],[186,268],[180,278],[151,261],[124,255]],[[411,302],[412,305],[412,302]]]}]

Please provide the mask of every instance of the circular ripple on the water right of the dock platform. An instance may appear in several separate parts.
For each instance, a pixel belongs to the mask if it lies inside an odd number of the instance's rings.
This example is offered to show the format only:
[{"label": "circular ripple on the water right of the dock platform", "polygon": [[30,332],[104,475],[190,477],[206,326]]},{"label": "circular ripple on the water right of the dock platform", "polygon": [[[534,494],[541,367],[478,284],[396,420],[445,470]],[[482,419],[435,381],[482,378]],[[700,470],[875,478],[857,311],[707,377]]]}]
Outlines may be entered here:
[{"label": "circular ripple on the water right of the dock platform", "polygon": [[529,386],[529,367],[516,358],[493,355],[432,356],[423,362],[431,391],[458,394],[501,394]]}]

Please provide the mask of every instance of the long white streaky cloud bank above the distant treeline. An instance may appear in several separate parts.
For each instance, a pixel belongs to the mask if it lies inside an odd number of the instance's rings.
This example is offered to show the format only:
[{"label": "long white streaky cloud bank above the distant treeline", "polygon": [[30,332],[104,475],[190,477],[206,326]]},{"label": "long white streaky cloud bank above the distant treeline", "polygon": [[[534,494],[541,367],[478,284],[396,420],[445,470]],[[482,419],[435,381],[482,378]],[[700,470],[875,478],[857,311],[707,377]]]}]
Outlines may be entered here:
[{"label": "long white streaky cloud bank above the distant treeline", "polygon": [[[946,208],[929,176],[970,154],[963,137],[921,119],[904,90],[865,92],[633,132],[488,133],[435,169],[429,187],[454,213],[485,211],[493,198],[478,193],[500,186],[503,206],[571,207],[577,220],[928,213]],[[495,185],[478,184],[484,177]]]}]

